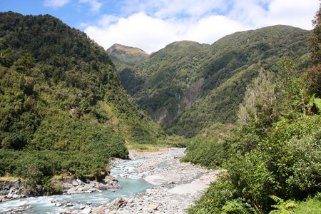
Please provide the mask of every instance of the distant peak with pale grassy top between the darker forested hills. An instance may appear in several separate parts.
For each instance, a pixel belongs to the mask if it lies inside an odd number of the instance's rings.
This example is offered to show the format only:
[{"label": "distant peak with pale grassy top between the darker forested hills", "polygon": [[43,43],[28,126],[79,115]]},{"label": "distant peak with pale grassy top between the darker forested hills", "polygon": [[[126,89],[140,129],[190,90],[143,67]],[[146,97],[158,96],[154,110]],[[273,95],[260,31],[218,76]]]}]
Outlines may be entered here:
[{"label": "distant peak with pale grassy top between the darker forested hills", "polygon": [[149,57],[143,50],[114,44],[107,49],[108,55],[116,65],[125,64],[127,66],[135,66],[138,63],[146,61]]}]

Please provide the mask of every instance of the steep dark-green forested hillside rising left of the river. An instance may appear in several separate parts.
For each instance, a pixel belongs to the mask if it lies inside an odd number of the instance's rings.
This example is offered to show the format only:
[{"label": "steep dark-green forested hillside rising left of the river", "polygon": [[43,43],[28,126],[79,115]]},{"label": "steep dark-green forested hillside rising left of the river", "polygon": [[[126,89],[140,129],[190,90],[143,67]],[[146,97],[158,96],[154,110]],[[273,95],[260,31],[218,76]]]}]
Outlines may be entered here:
[{"label": "steep dark-green forested hillside rising left of the river", "polygon": [[107,173],[110,156],[127,158],[126,142],[165,138],[107,52],[53,16],[1,13],[0,54],[0,175],[36,191],[53,175]]}]

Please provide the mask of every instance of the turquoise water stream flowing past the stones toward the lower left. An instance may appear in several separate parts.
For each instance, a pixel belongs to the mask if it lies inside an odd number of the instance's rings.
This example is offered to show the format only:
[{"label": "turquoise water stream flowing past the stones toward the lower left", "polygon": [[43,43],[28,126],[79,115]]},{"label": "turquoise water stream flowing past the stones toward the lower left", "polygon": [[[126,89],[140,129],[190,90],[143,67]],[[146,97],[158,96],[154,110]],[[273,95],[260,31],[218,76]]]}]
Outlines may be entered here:
[{"label": "turquoise water stream flowing past the stones toward the lower left", "polygon": [[57,213],[58,210],[65,207],[56,207],[56,204],[62,203],[66,205],[67,202],[72,204],[71,207],[68,207],[68,210],[79,210],[81,206],[88,203],[96,207],[111,202],[118,197],[128,197],[136,193],[143,193],[147,188],[151,188],[152,185],[143,180],[141,175],[137,173],[134,165],[139,161],[144,161],[144,159],[119,163],[111,169],[111,174],[118,178],[118,183],[122,186],[121,189],[115,192],[104,190],[101,193],[51,195],[10,200],[0,203],[0,213],[8,213],[11,209],[29,206],[32,208],[24,210],[22,213]]}]

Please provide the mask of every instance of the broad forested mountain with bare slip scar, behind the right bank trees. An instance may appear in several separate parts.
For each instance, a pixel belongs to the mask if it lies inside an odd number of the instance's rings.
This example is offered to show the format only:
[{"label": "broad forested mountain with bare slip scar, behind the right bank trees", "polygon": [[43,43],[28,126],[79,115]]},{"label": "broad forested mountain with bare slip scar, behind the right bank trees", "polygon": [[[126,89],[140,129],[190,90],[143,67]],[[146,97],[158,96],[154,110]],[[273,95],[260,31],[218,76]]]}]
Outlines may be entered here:
[{"label": "broad forested mountain with bare slip scar, behind the right bank trees", "polygon": [[277,75],[283,57],[302,73],[311,31],[269,26],[212,45],[178,41],[120,71],[121,83],[166,132],[187,137],[215,123],[235,123],[245,88],[261,69]]}]

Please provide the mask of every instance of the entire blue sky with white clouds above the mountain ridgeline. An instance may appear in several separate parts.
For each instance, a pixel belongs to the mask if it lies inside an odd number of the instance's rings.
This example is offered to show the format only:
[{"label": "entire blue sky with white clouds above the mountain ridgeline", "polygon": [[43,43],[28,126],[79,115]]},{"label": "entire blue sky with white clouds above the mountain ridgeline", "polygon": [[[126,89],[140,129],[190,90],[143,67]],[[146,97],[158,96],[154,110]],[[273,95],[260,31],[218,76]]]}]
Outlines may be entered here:
[{"label": "entire blue sky with white clouds above the mountain ridgeline", "polygon": [[174,41],[213,42],[236,31],[284,24],[311,30],[318,0],[0,0],[0,11],[50,14],[108,49],[151,54]]}]

